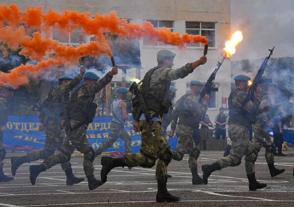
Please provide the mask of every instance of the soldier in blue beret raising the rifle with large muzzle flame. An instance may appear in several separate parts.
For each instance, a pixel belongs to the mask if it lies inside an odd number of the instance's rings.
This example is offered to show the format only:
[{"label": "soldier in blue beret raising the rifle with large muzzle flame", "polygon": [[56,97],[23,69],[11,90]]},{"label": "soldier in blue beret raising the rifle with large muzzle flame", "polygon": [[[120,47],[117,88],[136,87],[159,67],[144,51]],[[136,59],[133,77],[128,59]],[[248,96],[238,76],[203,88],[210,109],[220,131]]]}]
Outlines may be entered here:
[{"label": "soldier in blue beret raising the rifle with large muzzle flame", "polygon": [[197,80],[191,81],[190,93],[182,96],[176,103],[173,111],[171,136],[177,119],[176,135],[178,137],[176,150],[173,152],[173,159],[181,161],[185,154],[189,154],[189,167],[192,172],[192,184],[202,184],[203,180],[199,177],[197,171],[197,159],[200,155],[200,150],[193,140],[193,129],[199,128],[199,122],[206,112],[206,103],[209,95],[205,95],[203,103],[199,104],[197,96],[199,95],[203,83]]}]

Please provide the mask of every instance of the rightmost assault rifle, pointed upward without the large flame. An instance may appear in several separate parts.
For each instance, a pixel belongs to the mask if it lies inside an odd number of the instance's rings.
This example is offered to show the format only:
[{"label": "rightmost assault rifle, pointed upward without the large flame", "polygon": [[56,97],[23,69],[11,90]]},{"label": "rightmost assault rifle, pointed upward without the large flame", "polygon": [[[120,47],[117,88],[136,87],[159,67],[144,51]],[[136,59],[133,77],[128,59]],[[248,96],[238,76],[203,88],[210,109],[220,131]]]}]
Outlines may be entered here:
[{"label": "rightmost assault rifle, pointed upward without the large flame", "polygon": [[262,78],[262,75],[264,74],[264,72],[267,68],[268,61],[270,59],[270,56],[272,55],[273,49],[274,49],[274,47],[271,50],[269,49],[269,51],[270,51],[269,56],[267,56],[265,58],[265,60],[263,61],[263,63],[261,64],[261,66],[260,66],[260,68],[259,68],[259,70],[253,80],[252,85],[250,85],[250,87],[248,89],[247,97],[245,99],[245,103],[248,102],[249,100],[251,100],[251,101],[254,100],[254,92],[255,92],[258,84],[271,82],[271,78]]}]

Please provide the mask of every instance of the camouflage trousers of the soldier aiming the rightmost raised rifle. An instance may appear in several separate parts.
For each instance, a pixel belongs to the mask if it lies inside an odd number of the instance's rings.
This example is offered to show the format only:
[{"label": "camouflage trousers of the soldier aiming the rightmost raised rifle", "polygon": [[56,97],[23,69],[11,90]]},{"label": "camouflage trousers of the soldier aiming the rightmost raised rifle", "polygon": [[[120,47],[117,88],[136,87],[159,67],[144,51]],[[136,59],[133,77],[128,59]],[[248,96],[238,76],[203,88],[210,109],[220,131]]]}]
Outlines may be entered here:
[{"label": "camouflage trousers of the soldier aiming the rightmost raised rifle", "polygon": [[[238,166],[242,157],[252,152],[253,145],[249,143],[249,130],[240,124],[229,124],[228,135],[232,140],[230,155],[218,159],[221,168]],[[248,173],[247,173],[248,174]]]}]

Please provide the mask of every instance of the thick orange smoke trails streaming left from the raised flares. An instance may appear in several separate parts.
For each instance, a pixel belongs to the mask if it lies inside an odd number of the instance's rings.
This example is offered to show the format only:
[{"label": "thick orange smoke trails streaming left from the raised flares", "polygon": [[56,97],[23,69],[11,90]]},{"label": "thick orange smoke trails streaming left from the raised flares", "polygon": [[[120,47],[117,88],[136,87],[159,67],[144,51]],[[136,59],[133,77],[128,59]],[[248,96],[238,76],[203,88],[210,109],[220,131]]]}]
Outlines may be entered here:
[{"label": "thick orange smoke trails streaming left from the raised flares", "polygon": [[[30,37],[25,34],[25,27],[37,28],[40,32],[33,33]],[[60,45],[57,40],[49,37],[52,26],[61,28],[65,33],[73,29],[82,28],[82,32],[87,35],[95,35],[96,41],[88,44],[79,44],[77,47]],[[139,24],[127,23],[120,19],[116,12],[109,14],[93,15],[90,12],[80,13],[77,11],[63,10],[62,13],[51,9],[47,13],[42,12],[42,7],[27,7],[26,11],[21,11],[17,5],[9,6],[0,4],[0,41],[6,42],[13,49],[22,46],[21,54],[28,56],[32,60],[40,61],[37,65],[21,65],[12,69],[10,73],[0,73],[0,80],[12,85],[21,85],[28,81],[26,76],[37,76],[39,70],[49,69],[53,64],[75,63],[79,56],[107,54],[111,56],[111,50],[105,39],[104,32],[117,34],[122,38],[142,38],[147,37],[151,41],[159,41],[168,45],[184,48],[186,43],[207,43],[207,38],[199,35],[182,36],[173,33],[169,29],[156,29],[149,22]],[[44,60],[49,53],[55,53],[55,57]]]}]

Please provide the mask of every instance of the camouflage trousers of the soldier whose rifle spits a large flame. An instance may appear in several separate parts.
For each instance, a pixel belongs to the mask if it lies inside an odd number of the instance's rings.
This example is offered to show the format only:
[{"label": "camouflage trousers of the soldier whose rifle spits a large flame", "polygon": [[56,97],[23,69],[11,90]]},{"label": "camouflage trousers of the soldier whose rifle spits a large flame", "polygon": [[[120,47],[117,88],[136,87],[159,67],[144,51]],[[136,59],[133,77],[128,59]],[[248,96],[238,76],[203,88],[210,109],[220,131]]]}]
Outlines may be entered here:
[{"label": "camouflage trousers of the soldier whose rifle spits a large flame", "polygon": [[176,149],[173,152],[173,159],[180,161],[185,154],[189,154],[190,169],[197,169],[197,159],[200,155],[200,150],[193,141],[193,128],[179,124],[176,127],[176,135],[178,137]]}]

